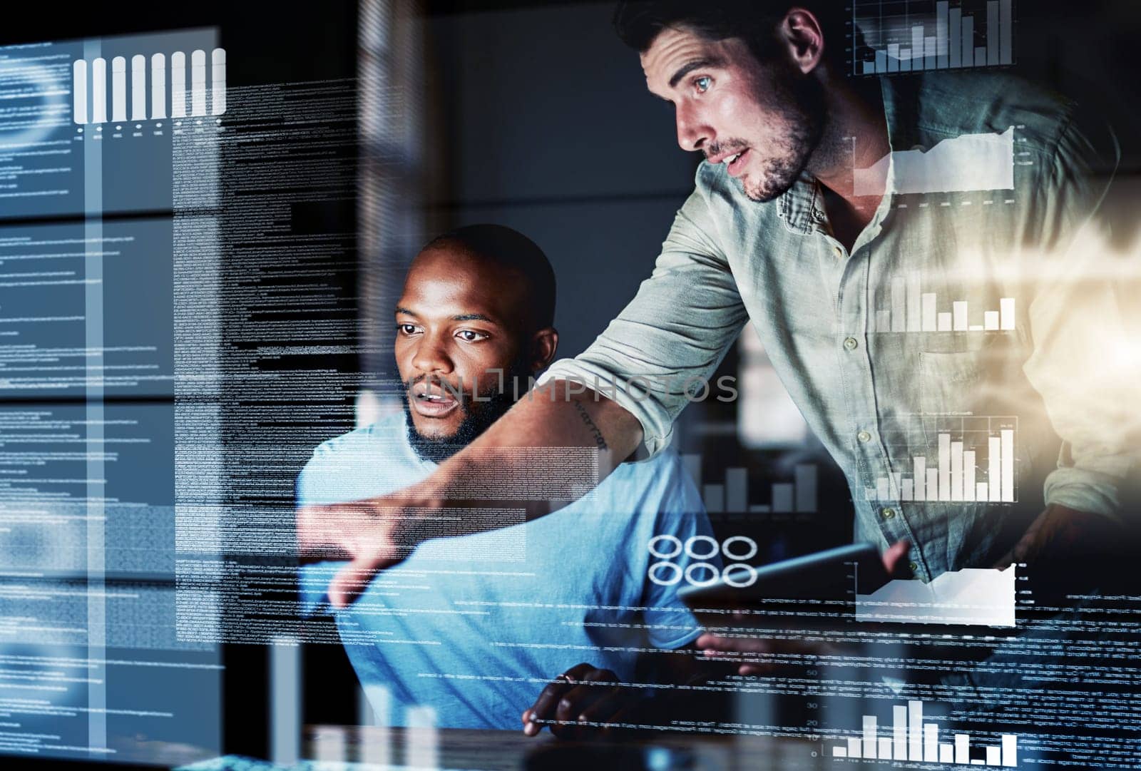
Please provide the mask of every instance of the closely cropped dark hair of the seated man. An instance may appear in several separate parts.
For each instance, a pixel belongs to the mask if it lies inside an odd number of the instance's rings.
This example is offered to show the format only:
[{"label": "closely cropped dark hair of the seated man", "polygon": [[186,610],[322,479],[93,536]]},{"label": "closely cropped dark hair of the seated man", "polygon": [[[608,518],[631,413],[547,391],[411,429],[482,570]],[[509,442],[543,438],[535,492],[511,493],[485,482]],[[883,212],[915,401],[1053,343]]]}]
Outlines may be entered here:
[{"label": "closely cropped dark hair of the seated man", "polygon": [[503,225],[468,225],[436,236],[420,251],[458,246],[523,276],[535,328],[555,324],[555,269],[539,245]]}]

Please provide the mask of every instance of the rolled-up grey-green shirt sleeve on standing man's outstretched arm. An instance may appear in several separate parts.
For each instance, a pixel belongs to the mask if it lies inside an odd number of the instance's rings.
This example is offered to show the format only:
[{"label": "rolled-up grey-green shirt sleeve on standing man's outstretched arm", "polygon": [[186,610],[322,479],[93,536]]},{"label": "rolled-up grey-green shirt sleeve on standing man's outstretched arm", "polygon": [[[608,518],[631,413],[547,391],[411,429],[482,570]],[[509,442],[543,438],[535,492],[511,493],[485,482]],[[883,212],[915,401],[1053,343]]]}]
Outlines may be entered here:
[{"label": "rolled-up grey-green shirt sleeve on standing man's outstretched arm", "polygon": [[630,305],[585,351],[556,362],[540,379],[613,398],[641,423],[650,457],[669,446],[673,421],[690,400],[713,398],[709,379],[747,319],[712,225],[698,187]]}]

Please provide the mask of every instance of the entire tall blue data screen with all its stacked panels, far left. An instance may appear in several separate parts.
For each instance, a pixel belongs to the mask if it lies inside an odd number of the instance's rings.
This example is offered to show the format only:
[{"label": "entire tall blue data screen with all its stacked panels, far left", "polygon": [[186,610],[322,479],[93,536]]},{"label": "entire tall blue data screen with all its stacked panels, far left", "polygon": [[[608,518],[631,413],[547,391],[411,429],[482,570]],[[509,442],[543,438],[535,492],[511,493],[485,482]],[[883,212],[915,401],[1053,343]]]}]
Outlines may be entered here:
[{"label": "entire tall blue data screen with all its stacked panels, far left", "polygon": [[220,752],[220,652],[176,596],[175,169],[225,65],[215,29],[0,47],[3,768]]}]

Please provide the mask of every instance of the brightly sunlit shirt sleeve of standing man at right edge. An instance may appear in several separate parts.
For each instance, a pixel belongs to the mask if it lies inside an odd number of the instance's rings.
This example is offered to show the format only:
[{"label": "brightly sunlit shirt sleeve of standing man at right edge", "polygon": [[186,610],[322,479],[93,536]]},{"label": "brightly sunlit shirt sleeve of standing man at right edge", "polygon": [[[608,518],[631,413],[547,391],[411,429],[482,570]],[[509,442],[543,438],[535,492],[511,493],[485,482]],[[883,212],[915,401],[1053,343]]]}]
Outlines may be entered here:
[{"label": "brightly sunlit shirt sleeve of standing man at right edge", "polygon": [[1099,147],[1068,125],[1038,193],[1043,253],[1023,372],[1062,439],[1046,503],[1117,517],[1123,485],[1141,465],[1139,330],[1125,307],[1136,265],[1107,237],[1101,204],[1117,153]]}]

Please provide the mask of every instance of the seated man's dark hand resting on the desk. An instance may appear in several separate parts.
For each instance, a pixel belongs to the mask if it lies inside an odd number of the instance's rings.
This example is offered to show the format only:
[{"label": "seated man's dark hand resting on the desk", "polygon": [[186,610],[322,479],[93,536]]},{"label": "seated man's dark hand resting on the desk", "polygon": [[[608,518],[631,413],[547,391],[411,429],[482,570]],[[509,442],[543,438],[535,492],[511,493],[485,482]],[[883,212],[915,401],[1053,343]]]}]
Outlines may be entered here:
[{"label": "seated man's dark hand resting on the desk", "polygon": [[523,713],[523,732],[537,736],[549,724],[551,733],[560,739],[582,739],[608,730],[598,723],[638,722],[634,713],[645,700],[639,689],[618,682],[609,669],[583,663],[539,693],[535,704]]}]

